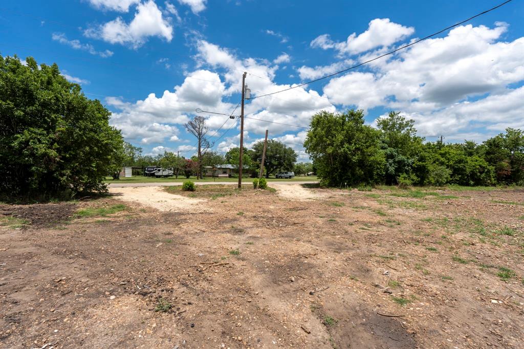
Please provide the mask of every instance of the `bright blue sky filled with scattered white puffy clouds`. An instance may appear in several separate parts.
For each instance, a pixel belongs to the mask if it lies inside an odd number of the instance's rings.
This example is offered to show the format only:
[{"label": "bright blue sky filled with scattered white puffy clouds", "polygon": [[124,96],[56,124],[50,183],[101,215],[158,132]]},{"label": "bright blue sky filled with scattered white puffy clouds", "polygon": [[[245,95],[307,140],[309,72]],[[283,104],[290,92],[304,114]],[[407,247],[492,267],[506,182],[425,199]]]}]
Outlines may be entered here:
[{"label": "bright blue sky filled with scattered white puffy clouds", "polygon": [[[194,110],[232,112],[242,72],[253,95],[274,92],[378,56],[493,1],[81,0],[3,2],[0,53],[56,62],[112,112],[145,154],[180,150]],[[419,134],[482,141],[524,128],[524,2],[514,0],[388,59],[246,104],[246,144],[266,128],[307,160],[303,128],[319,110],[389,110]],[[238,110],[235,114],[238,114]],[[238,146],[238,122],[209,116],[214,149]],[[227,120],[227,121],[226,121]],[[224,122],[222,129],[215,132]],[[224,132],[227,133],[224,134]],[[219,138],[220,137],[220,138]]]}]

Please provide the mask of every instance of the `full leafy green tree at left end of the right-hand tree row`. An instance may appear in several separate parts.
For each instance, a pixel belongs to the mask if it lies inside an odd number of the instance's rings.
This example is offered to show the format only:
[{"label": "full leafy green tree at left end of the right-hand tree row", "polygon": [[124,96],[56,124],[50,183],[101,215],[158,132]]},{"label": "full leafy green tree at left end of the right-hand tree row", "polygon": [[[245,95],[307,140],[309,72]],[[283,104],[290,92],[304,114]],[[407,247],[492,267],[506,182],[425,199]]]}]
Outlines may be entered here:
[{"label": "full leafy green tree at left end of the right-hand tree row", "polygon": [[321,111],[311,119],[304,141],[324,186],[383,181],[386,160],[380,131],[364,125],[362,110],[344,114]]}]

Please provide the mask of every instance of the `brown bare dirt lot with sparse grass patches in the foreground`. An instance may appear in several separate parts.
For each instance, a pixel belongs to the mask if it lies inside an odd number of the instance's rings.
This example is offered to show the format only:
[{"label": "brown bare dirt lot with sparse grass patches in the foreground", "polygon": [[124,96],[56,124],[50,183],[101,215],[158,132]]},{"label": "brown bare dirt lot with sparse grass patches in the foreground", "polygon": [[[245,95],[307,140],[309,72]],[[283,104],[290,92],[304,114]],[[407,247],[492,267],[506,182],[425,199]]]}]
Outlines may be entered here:
[{"label": "brown bare dirt lot with sparse grass patches in the foreground", "polygon": [[0,346],[524,347],[522,189],[278,189],[0,206]]}]

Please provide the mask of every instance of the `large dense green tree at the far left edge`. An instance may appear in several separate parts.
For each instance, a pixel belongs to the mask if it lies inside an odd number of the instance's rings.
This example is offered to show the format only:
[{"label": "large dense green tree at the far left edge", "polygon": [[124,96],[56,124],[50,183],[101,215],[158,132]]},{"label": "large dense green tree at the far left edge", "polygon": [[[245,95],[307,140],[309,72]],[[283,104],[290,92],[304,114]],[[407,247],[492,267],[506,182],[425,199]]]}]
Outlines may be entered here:
[{"label": "large dense green tree at the far left edge", "polygon": [[57,64],[0,56],[0,193],[35,198],[106,191],[123,163],[111,112]]}]

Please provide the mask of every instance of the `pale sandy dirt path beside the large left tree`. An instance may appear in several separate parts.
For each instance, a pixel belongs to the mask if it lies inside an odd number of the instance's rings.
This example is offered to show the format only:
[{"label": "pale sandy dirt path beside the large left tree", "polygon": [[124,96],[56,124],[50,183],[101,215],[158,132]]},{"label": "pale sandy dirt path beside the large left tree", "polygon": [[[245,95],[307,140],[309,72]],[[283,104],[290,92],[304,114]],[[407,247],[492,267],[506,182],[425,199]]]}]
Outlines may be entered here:
[{"label": "pale sandy dirt path beside the large left tree", "polygon": [[205,205],[206,200],[191,199],[182,195],[170,194],[162,187],[126,187],[110,188],[109,192],[123,201],[134,202],[149,206],[159,211],[172,212],[209,212],[211,209]]}]

